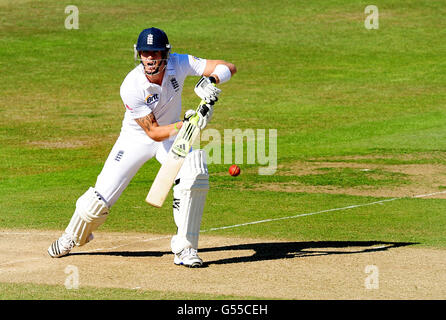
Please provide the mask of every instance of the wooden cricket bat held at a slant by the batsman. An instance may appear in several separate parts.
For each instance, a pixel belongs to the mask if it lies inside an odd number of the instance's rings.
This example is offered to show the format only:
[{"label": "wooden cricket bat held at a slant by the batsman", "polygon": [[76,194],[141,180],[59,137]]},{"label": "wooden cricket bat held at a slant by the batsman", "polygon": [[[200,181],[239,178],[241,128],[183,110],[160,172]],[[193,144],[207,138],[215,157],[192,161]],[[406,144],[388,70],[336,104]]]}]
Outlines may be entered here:
[{"label": "wooden cricket bat held at a slant by the batsman", "polygon": [[161,165],[161,168],[153,181],[152,187],[150,188],[149,194],[146,197],[146,202],[148,204],[161,208],[164,200],[166,200],[175,177],[178,175],[184,159],[200,132],[200,129],[197,126],[199,120],[198,112],[203,104],[206,104],[206,102],[201,100],[196,110],[197,113],[189,120],[186,120],[178,132],[172,147],[167,153],[167,158]]}]

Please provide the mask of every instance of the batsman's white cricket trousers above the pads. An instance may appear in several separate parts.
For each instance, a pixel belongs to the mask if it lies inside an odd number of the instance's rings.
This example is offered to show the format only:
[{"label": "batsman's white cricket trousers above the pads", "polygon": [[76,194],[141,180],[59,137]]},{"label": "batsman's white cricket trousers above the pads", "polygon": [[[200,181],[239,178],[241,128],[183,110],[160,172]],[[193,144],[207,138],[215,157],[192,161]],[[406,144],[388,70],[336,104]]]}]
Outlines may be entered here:
[{"label": "batsman's white cricket trousers above the pads", "polygon": [[145,142],[121,133],[95,185],[96,191],[103,197],[109,208],[119,199],[144,163],[153,157],[163,163],[172,143],[173,139]]}]

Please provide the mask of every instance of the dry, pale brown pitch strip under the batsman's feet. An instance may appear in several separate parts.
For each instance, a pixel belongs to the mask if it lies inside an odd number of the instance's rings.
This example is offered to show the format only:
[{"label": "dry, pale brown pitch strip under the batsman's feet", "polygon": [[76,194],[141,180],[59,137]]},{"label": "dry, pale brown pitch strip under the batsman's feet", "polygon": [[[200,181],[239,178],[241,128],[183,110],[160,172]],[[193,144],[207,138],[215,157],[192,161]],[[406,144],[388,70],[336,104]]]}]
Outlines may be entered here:
[{"label": "dry, pale brown pitch strip under the batsman's feet", "polygon": [[[446,250],[404,243],[280,242],[203,234],[204,268],[173,264],[170,237],[97,232],[69,256],[58,231],[2,230],[0,282],[117,287],[280,299],[445,299]],[[368,267],[367,266],[376,266]],[[376,281],[378,280],[378,281]]]}]

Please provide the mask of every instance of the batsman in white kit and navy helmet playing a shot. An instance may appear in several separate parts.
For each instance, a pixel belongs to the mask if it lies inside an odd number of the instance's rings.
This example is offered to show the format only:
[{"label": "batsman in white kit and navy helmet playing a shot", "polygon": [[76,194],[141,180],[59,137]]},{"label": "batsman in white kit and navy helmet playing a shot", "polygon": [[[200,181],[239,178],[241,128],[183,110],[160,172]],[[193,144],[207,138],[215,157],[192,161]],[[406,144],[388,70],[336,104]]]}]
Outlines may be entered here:
[{"label": "batsman in white kit and navy helmet playing a shot", "polygon": [[[94,187],[76,201],[74,214],[62,236],[48,248],[53,258],[69,254],[74,246],[93,239],[93,231],[107,219],[131,179],[148,160],[155,157],[161,164],[183,121],[199,115],[198,127],[204,129],[221,92],[215,84],[227,82],[236,67],[224,60],[197,58],[171,53],[171,45],[163,30],[144,29],[134,46],[140,63],[122,82],[120,94],[125,114],[120,135],[115,142]],[[181,94],[187,76],[201,76],[194,91],[206,102],[208,112],[194,110],[181,116]],[[198,85],[200,84],[200,85]],[[193,150],[175,179],[173,216],[177,234],[172,237],[174,263],[201,267],[198,236],[204,204],[209,190],[209,174],[203,150]]]}]

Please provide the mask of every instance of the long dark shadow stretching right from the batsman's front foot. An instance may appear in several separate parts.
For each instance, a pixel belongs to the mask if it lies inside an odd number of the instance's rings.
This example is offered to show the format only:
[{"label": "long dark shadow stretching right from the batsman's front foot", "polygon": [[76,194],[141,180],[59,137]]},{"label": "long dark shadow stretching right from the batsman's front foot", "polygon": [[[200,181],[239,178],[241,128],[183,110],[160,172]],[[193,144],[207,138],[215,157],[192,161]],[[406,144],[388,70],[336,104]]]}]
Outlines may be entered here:
[{"label": "long dark shadow stretching right from the batsman's front foot", "polygon": [[231,258],[207,261],[206,265],[256,262],[276,259],[291,259],[325,255],[361,254],[387,251],[393,248],[417,244],[415,242],[385,241],[308,241],[266,242],[203,248],[200,252],[254,251],[253,254],[236,255]]}]

